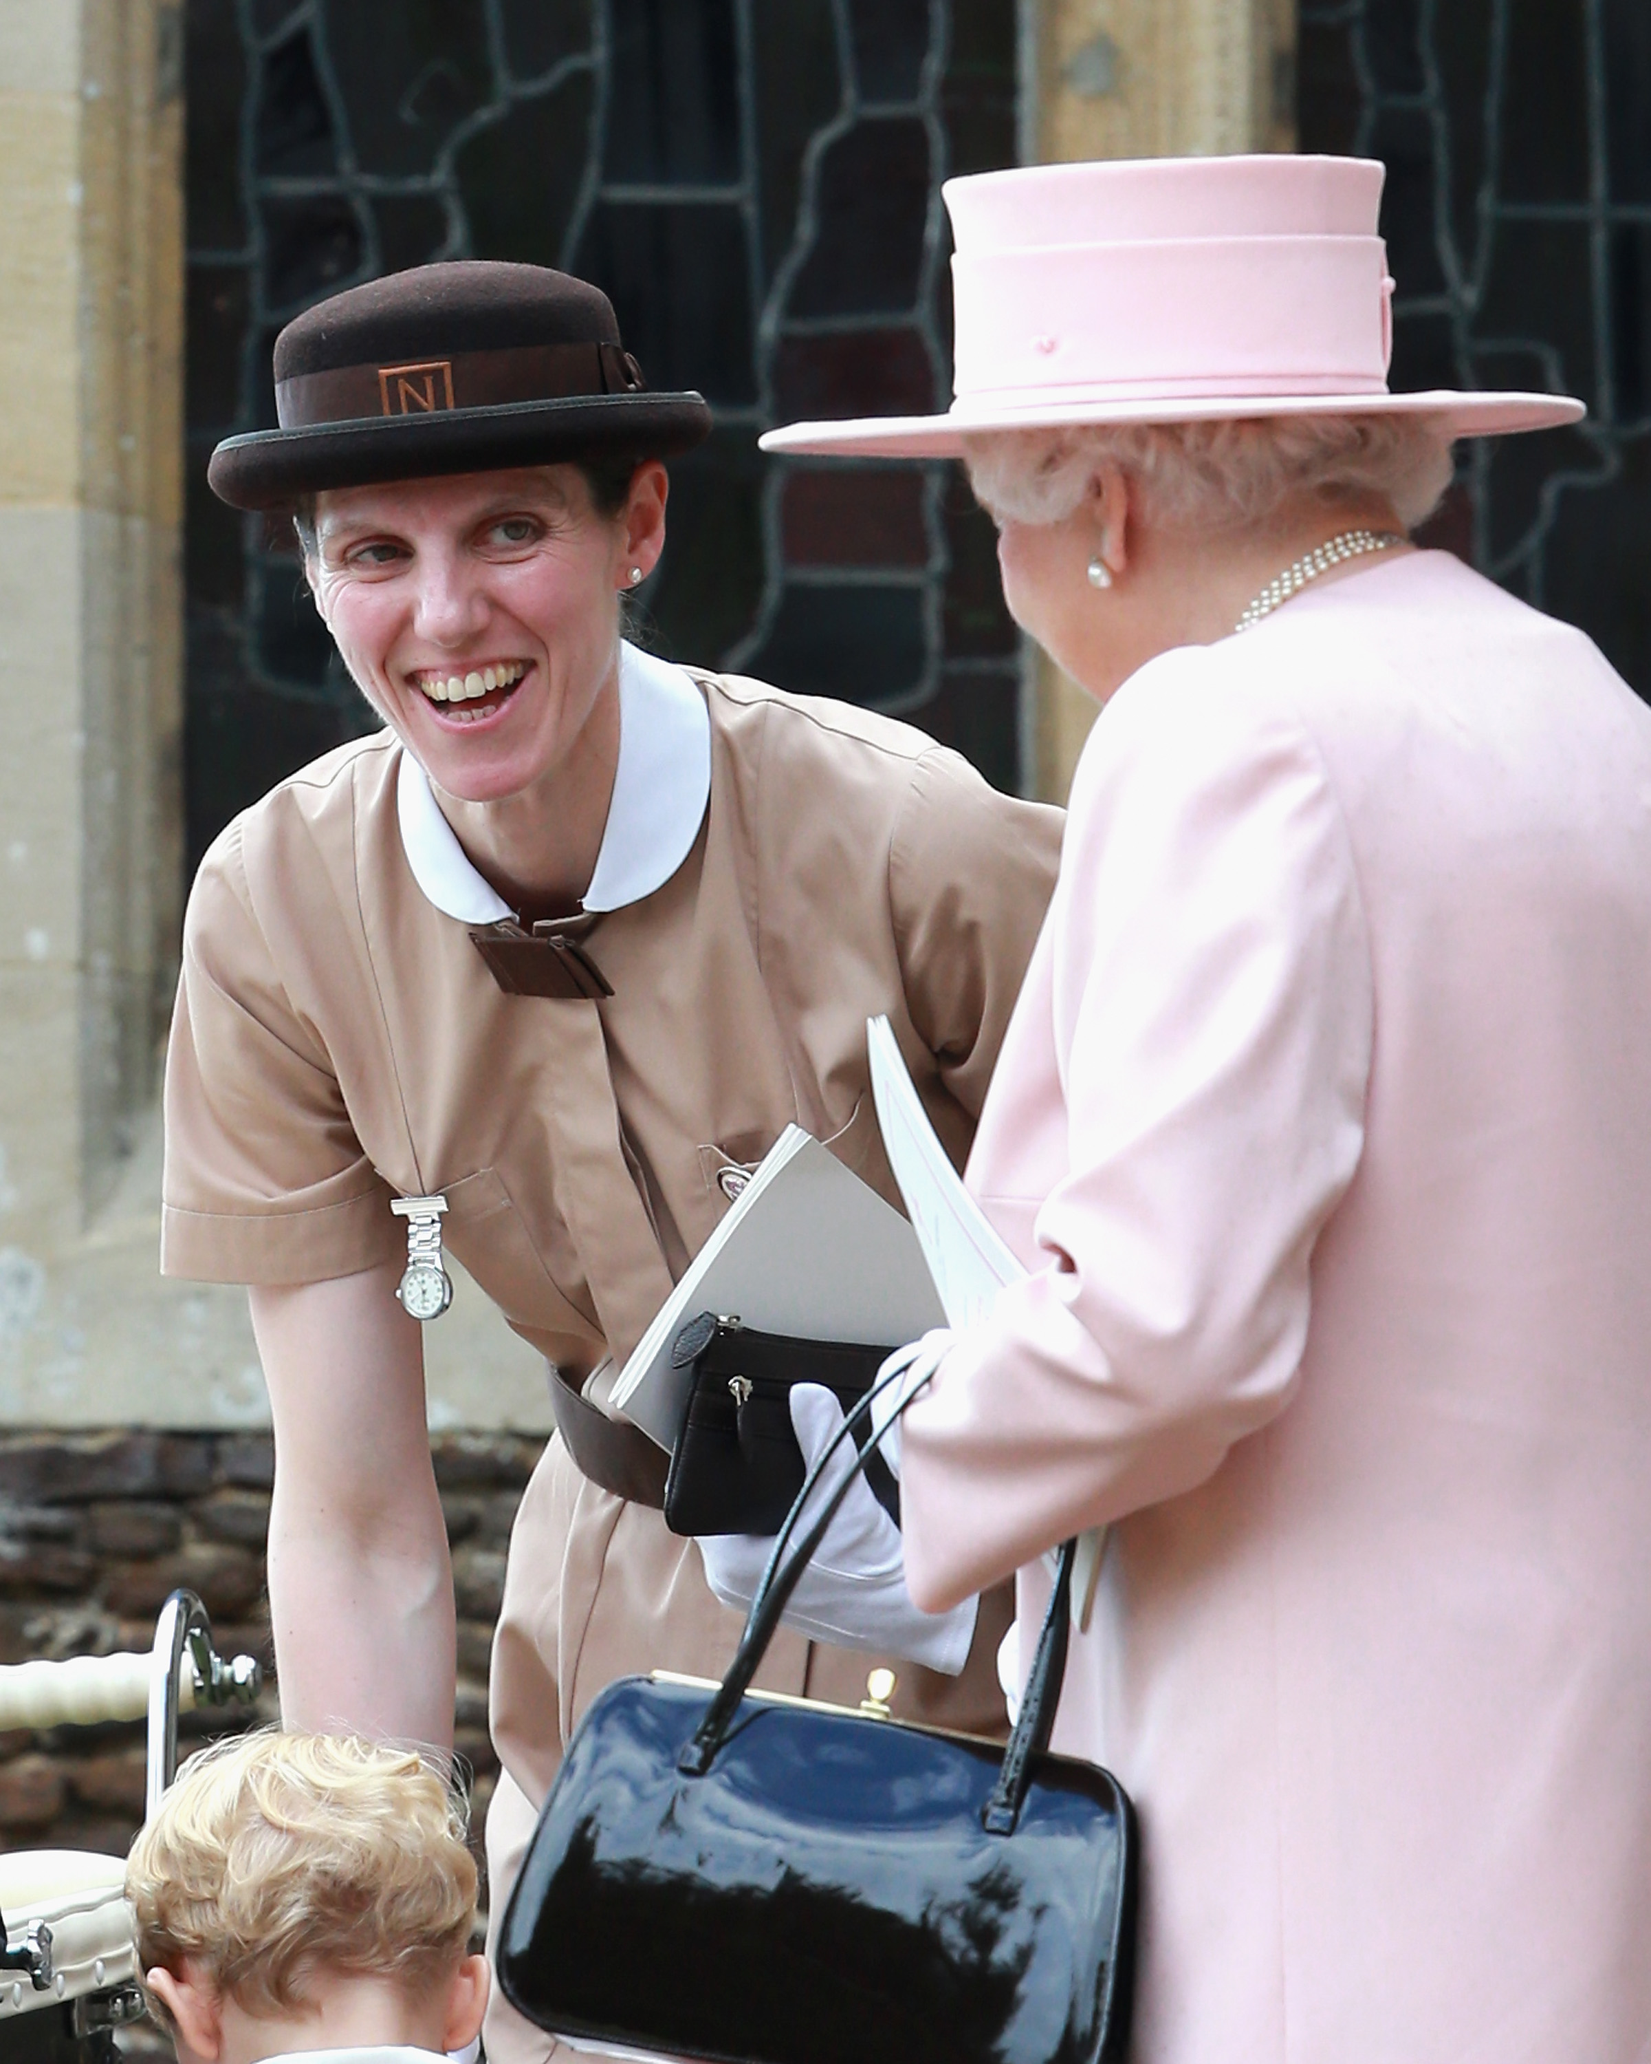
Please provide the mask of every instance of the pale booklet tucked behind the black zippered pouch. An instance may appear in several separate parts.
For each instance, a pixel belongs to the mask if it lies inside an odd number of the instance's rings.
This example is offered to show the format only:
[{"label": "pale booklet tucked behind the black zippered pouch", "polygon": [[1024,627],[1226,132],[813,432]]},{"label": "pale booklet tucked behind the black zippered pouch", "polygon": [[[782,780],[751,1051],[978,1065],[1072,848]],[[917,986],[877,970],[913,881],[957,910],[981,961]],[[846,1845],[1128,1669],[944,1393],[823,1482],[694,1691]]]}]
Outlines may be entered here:
[{"label": "pale booklet tucked behind the black zippered pouch", "polygon": [[662,1449],[675,1447],[693,1383],[691,1368],[671,1366],[671,1342],[702,1311],[766,1333],[892,1348],[947,1317],[916,1232],[797,1125],[768,1150],[613,1385],[613,1408]]}]

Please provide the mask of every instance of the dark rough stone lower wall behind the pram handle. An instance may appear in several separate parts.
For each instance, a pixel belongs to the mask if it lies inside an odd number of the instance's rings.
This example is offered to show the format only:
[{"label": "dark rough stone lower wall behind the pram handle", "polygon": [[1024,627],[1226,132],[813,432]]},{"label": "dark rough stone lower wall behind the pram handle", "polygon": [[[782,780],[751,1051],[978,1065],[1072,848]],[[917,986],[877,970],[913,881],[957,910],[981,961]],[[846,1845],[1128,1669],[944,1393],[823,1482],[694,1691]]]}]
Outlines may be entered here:
[{"label": "dark rough stone lower wall behind the pram handle", "polygon": [[[458,1598],[456,1746],[475,1773],[475,1827],[493,1789],[487,1655],[516,1503],[541,1443],[431,1441]],[[264,1432],[0,1434],[0,1662],[147,1649],[177,1585],[198,1591],[219,1647],[272,1664],[264,1536],[274,1457]],[[274,1719],[266,1688],[254,1717]],[[190,1715],[204,1738],[223,1715]],[[246,1719],[233,1721],[244,1726]],[[142,1818],[142,1726],[0,1734],[0,1851],[124,1856]]]}]

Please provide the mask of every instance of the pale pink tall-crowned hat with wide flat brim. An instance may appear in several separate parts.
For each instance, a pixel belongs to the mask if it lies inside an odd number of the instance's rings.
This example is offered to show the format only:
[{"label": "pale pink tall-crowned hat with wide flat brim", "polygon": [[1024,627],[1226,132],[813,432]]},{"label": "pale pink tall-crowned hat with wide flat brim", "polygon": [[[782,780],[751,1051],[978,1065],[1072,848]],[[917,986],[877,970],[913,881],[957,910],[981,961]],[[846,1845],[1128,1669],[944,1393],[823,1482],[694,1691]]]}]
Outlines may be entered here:
[{"label": "pale pink tall-crowned hat with wide flat brim", "polygon": [[788,423],[766,452],[953,458],[970,431],[1424,415],[1445,438],[1575,423],[1560,394],[1389,394],[1385,167],[1168,157],[949,180],[956,400]]}]

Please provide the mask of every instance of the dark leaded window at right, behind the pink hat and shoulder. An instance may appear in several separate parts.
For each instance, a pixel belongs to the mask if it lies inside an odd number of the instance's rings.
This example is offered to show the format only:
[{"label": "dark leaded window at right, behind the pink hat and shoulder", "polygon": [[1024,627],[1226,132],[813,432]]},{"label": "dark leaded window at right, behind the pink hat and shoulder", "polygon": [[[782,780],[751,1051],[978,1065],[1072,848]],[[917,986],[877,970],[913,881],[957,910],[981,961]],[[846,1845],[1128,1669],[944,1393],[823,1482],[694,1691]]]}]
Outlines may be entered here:
[{"label": "dark leaded window at right, behind the pink hat and shoulder", "polygon": [[1589,405],[1463,446],[1434,535],[1651,696],[1651,6],[1302,0],[1300,149],[1387,161],[1395,386]]}]

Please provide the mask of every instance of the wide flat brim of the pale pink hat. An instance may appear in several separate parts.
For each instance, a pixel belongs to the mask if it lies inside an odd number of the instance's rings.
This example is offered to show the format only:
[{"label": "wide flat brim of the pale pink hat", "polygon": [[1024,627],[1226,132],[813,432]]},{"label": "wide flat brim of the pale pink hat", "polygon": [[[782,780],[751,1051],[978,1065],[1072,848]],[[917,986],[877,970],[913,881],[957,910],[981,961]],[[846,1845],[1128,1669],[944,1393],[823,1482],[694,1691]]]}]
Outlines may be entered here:
[{"label": "wide flat brim of the pale pink hat", "polygon": [[1063,400],[1032,409],[951,409],[947,415],[885,415],[844,423],[786,423],[757,442],[764,452],[842,458],[962,458],[964,440],[1001,429],[1065,429],[1079,423],[1222,423],[1275,415],[1420,415],[1440,438],[1492,438],[1579,423],[1587,409],[1568,394],[1230,394],[1201,400]]}]

